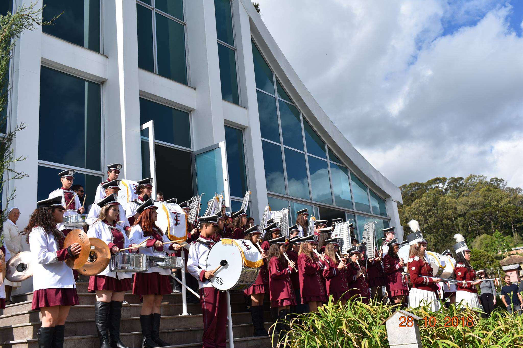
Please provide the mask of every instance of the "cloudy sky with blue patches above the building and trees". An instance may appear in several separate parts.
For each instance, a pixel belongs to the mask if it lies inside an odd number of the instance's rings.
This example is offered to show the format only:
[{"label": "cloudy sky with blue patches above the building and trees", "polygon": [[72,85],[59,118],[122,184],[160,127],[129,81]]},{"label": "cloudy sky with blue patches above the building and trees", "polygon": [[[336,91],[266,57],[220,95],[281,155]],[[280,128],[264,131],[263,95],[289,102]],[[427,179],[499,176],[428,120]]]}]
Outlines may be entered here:
[{"label": "cloudy sky with blue patches above the building and trees", "polygon": [[396,185],[523,187],[523,0],[258,0],[336,126]]}]

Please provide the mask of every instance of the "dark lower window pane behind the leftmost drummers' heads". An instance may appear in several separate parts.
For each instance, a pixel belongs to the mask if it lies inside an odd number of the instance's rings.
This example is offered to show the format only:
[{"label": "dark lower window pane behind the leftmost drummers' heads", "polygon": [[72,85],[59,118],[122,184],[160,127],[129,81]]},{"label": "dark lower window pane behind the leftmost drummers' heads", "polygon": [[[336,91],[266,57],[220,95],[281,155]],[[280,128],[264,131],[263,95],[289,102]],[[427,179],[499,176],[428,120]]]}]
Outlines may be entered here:
[{"label": "dark lower window pane behind the leftmost drummers' heads", "polygon": [[[60,182],[60,176],[58,176],[58,173],[65,169],[66,167],[64,167],[64,169],[55,169],[50,167],[44,167],[41,165],[38,166],[37,201],[47,199],[51,191],[54,191],[55,189],[62,187],[62,183]],[[101,182],[101,176],[82,173],[74,174],[73,185],[82,185],[84,187],[85,194],[87,194],[87,196],[85,197],[84,205],[86,213],[87,208],[94,202],[96,188]],[[81,199],[80,202],[82,203],[83,199]],[[28,215],[30,213],[31,212],[28,212]]]}]

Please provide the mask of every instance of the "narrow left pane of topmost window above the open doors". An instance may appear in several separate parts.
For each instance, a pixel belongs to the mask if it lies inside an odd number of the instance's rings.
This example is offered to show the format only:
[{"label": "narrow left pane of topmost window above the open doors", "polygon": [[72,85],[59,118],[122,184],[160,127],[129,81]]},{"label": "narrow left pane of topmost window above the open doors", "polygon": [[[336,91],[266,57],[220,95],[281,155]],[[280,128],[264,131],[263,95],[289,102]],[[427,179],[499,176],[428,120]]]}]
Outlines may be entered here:
[{"label": "narrow left pane of topmost window above the open doors", "polygon": [[137,4],[136,17],[138,34],[138,67],[154,73],[152,11]]}]

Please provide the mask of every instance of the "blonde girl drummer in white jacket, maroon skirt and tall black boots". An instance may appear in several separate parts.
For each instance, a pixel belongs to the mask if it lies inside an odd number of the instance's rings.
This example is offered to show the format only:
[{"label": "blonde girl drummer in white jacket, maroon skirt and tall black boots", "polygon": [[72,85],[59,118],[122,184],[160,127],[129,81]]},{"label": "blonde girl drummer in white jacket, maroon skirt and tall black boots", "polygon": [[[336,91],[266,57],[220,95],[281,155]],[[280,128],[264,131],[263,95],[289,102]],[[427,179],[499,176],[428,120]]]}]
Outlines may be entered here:
[{"label": "blonde girl drummer in white jacket, maroon skirt and tall black boots", "polygon": [[[117,254],[120,249],[135,246],[129,243],[126,232],[116,223],[120,214],[118,194],[107,195],[96,206],[99,210],[98,219],[87,231],[87,236],[107,243],[111,255]],[[131,273],[111,272],[109,265],[98,275],[89,278],[87,291],[96,293],[95,324],[100,348],[127,348],[120,340],[120,319],[123,297],[128,290],[131,290]]]}]

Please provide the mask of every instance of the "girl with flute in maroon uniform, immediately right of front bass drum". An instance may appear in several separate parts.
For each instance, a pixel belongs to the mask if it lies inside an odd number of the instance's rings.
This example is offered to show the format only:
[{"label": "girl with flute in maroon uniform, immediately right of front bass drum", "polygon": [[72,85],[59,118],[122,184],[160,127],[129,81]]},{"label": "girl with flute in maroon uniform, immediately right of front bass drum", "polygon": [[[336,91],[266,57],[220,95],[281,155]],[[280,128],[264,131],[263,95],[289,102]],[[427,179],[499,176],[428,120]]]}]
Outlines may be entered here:
[{"label": "girl with flute in maroon uniform, immediately right of front bass drum", "polygon": [[264,323],[264,310],[263,300],[265,294],[269,293],[269,271],[267,270],[268,260],[267,254],[259,246],[259,237],[261,232],[259,231],[259,225],[252,226],[245,231],[245,239],[251,241],[256,248],[259,249],[261,257],[264,259],[264,264],[261,266],[258,273],[258,278],[254,284],[243,291],[247,296],[251,296],[251,316],[253,318],[254,335],[255,336],[266,336],[269,333],[265,330]]}]

